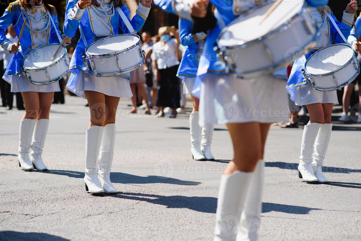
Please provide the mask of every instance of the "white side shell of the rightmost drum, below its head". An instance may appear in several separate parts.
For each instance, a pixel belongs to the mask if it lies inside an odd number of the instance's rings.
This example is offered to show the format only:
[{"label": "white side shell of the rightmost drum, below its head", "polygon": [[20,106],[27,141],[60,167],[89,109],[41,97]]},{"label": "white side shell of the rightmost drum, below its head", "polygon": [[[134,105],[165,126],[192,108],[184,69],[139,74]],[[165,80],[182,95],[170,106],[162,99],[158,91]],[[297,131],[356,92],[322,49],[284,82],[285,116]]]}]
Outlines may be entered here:
[{"label": "white side shell of the rightmost drum, below its head", "polygon": [[[353,58],[346,66],[335,71],[333,75],[308,75],[314,89],[317,89],[318,91],[334,91],[335,89],[347,86],[357,78],[359,73],[360,63],[356,58]],[[337,80],[337,84],[335,83],[335,79]]]}]

